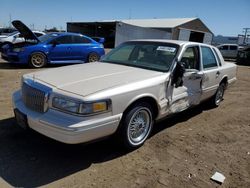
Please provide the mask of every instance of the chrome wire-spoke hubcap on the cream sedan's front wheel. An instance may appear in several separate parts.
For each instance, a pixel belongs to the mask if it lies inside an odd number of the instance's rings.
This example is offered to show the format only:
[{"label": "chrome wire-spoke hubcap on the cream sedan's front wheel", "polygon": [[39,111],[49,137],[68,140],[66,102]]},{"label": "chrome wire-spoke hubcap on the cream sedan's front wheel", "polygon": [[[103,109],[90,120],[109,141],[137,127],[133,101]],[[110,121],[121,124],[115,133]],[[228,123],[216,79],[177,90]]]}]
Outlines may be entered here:
[{"label": "chrome wire-spoke hubcap on the cream sedan's front wheel", "polygon": [[128,125],[129,140],[140,144],[147,138],[152,124],[152,115],[146,108],[137,110]]}]

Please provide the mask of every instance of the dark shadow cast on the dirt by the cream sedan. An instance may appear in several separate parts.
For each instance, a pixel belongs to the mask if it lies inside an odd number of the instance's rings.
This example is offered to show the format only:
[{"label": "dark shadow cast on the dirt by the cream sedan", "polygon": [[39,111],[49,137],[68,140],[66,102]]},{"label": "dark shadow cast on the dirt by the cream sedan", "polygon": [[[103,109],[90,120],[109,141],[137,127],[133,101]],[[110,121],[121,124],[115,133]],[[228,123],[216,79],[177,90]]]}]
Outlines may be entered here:
[{"label": "dark shadow cast on the dirt by the cream sedan", "polygon": [[[204,106],[198,106],[157,123],[153,135],[204,110]],[[113,139],[85,145],[59,143],[34,131],[24,131],[14,118],[0,120],[0,139],[0,176],[13,187],[43,186],[88,169],[93,163],[128,153]]]}]

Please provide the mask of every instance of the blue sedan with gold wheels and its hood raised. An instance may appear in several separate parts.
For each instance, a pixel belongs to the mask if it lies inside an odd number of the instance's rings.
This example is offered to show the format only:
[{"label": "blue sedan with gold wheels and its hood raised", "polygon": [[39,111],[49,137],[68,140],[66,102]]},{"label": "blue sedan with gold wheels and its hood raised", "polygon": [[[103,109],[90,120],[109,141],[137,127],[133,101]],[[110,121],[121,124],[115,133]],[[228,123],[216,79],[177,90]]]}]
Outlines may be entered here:
[{"label": "blue sedan with gold wheels and its hood raised", "polygon": [[2,47],[2,58],[12,63],[40,68],[47,63],[94,62],[105,54],[103,44],[81,34],[50,33],[37,37],[21,21],[12,24],[25,38],[25,42]]}]

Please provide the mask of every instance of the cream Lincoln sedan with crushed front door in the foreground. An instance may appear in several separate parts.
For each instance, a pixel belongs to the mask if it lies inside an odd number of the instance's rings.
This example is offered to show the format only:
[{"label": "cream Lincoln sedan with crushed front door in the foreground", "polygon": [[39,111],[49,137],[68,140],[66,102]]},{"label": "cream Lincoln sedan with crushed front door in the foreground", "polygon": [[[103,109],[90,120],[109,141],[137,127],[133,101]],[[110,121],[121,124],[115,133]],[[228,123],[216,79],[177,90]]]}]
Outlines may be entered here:
[{"label": "cream Lincoln sedan with crushed front door in the foreground", "polygon": [[236,65],[213,46],[137,40],[101,62],[24,75],[13,105],[20,126],[55,140],[76,144],[117,134],[131,149],[157,120],[205,100],[218,106],[235,80]]}]

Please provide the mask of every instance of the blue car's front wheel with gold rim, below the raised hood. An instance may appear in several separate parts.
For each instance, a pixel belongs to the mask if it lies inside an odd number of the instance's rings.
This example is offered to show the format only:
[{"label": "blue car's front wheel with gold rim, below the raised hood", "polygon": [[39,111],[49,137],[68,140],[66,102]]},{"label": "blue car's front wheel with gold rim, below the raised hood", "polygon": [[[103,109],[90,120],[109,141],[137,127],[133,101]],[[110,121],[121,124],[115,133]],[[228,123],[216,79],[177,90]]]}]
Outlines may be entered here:
[{"label": "blue car's front wheel with gold rim, below the raised hood", "polygon": [[42,68],[47,64],[47,57],[42,52],[31,54],[29,66],[32,68]]}]

